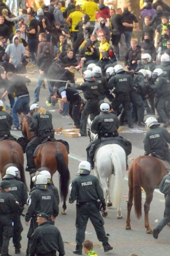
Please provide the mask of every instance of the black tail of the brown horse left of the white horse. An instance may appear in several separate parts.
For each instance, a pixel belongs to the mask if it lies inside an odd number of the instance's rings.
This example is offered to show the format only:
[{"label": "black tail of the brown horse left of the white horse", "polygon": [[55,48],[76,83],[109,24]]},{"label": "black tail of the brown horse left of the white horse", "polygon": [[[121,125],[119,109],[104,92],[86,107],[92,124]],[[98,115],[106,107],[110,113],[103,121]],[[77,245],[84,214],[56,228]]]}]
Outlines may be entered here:
[{"label": "black tail of the brown horse left of the white horse", "polygon": [[61,151],[56,151],[57,171],[60,174],[60,196],[66,201],[69,192],[70,172]]}]

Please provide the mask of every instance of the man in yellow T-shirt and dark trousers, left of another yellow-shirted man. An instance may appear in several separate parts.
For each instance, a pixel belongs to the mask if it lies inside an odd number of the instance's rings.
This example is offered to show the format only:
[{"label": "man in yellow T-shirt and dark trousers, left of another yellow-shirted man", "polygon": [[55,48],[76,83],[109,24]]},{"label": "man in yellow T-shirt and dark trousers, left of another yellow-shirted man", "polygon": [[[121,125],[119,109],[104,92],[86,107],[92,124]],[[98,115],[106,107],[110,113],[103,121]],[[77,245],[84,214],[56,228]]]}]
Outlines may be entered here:
[{"label": "man in yellow T-shirt and dark trousers, left of another yellow-shirted man", "polygon": [[75,6],[75,11],[70,13],[69,17],[66,19],[67,24],[71,27],[71,33],[73,36],[73,43],[78,37],[78,30],[75,29],[75,26],[81,21],[83,17],[83,13],[81,12],[80,5]]}]

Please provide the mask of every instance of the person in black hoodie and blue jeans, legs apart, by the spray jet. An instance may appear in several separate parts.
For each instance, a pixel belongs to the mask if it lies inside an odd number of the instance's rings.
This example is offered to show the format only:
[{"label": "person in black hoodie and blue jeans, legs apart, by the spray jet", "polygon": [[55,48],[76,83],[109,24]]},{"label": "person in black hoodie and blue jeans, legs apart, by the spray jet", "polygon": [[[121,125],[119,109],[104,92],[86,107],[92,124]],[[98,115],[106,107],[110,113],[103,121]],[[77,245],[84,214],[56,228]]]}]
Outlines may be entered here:
[{"label": "person in black hoodie and blue jeans, legs apart, by the spray jet", "polygon": [[39,101],[40,87],[41,87],[41,84],[44,81],[44,78],[47,79],[48,89],[49,89],[50,95],[51,94],[53,95],[53,88],[52,88],[52,85],[50,84],[50,81],[48,79],[48,69],[49,69],[52,62],[53,62],[53,57],[50,54],[49,47],[44,46],[43,52],[40,53],[38,55],[38,58],[37,58],[37,65],[39,67],[39,76],[38,76],[37,86],[36,86],[36,89],[35,89],[35,92],[34,92],[35,101],[33,101],[33,103],[37,103]]}]

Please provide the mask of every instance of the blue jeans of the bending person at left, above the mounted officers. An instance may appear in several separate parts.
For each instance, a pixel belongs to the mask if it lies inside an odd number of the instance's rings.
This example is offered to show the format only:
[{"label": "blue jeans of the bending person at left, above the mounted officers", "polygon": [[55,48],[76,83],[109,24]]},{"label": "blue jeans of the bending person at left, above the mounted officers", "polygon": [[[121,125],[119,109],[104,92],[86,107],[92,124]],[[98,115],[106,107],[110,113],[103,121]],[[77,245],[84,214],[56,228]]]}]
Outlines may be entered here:
[{"label": "blue jeans of the bending person at left, above the mounted officers", "polygon": [[22,111],[24,115],[27,115],[30,110],[29,105],[30,105],[29,96],[17,98],[15,100],[14,106],[12,108],[12,118],[13,118],[13,124],[16,128],[19,128],[19,119],[18,119],[19,111]]}]

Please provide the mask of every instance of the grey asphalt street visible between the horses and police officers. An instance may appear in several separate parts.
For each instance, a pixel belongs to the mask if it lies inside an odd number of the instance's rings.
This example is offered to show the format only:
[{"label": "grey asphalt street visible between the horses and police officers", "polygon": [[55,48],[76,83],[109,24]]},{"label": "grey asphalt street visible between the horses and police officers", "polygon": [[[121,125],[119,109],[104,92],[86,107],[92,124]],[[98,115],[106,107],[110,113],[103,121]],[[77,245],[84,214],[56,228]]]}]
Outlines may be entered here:
[{"label": "grey asphalt street visible between the horses and police officers", "polygon": [[[31,83],[28,85],[31,102],[33,101],[33,91],[35,90],[35,85],[37,82],[37,74],[30,76]],[[82,80],[78,79],[77,82]],[[81,95],[81,94],[80,94]],[[58,112],[59,106],[56,107],[47,107],[46,98],[48,97],[48,87],[46,83],[46,89],[41,88],[40,91],[40,101],[38,102],[40,106],[51,111],[53,115],[53,125],[54,128],[63,127],[63,129],[69,129],[73,125],[73,121],[70,119],[61,118],[60,113]],[[148,116],[145,116],[147,118]],[[120,135],[125,139],[128,139],[132,142],[132,153],[129,156],[129,164],[133,159],[139,155],[143,155],[143,138],[146,133],[145,128],[140,128],[138,125],[134,125],[134,129],[129,129],[128,125],[121,126]],[[12,134],[18,138],[21,136],[21,131],[12,131]],[[74,179],[77,175],[79,162],[86,160],[86,147],[89,143],[88,137],[78,137],[78,138],[67,138],[63,134],[55,135],[56,139],[63,139],[69,142],[70,145],[70,154],[69,154],[69,170],[71,173],[71,180]],[[25,155],[24,155],[24,166],[27,164]],[[93,174],[93,173],[92,173]],[[29,186],[29,174],[25,173],[27,177],[27,183]],[[114,178],[114,177],[113,177]],[[58,173],[54,175],[55,186],[58,187]],[[113,182],[113,181],[112,181]],[[122,213],[123,219],[116,218],[116,209],[110,207],[108,209],[108,217],[105,220],[105,230],[109,237],[109,243],[113,246],[113,251],[104,253],[101,243],[98,241],[94,228],[91,225],[91,222],[88,222],[86,229],[86,239],[92,240],[94,242],[94,249],[96,253],[101,255],[114,255],[114,256],[128,256],[131,253],[136,253],[139,256],[168,256],[169,255],[169,227],[165,227],[162,233],[159,234],[159,238],[155,240],[152,235],[146,234],[146,229],[144,226],[144,213],[142,218],[137,220],[134,215],[134,209],[132,207],[131,213],[131,227],[132,230],[125,230],[125,220],[126,220],[126,201],[128,199],[128,172],[126,172],[124,180],[124,188],[122,194]],[[145,201],[145,192],[142,192],[142,201]],[[72,256],[74,255],[72,251],[75,249],[75,203],[69,204],[67,202],[67,214],[61,214],[60,204],[60,214],[56,218],[55,225],[60,229],[64,246],[65,246],[65,255]],[[24,212],[27,212],[27,207],[25,206]],[[142,209],[143,212],[143,209]],[[152,200],[149,212],[149,220],[151,228],[154,228],[157,225],[157,222],[163,218],[164,213],[164,196],[155,190],[154,199]],[[27,247],[27,232],[28,227],[24,224],[24,218],[21,217],[23,224],[22,232],[22,249],[20,255],[23,256],[26,254]],[[12,241],[10,241],[9,253],[14,255],[14,247]],[[85,255],[83,253],[83,255]]]}]

